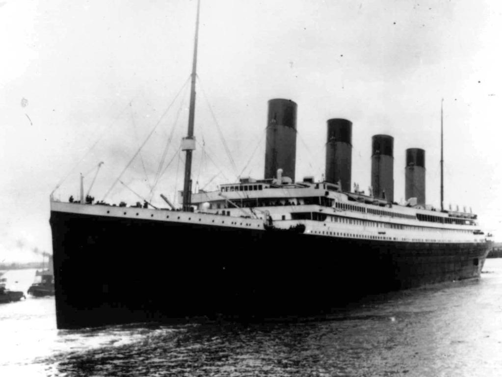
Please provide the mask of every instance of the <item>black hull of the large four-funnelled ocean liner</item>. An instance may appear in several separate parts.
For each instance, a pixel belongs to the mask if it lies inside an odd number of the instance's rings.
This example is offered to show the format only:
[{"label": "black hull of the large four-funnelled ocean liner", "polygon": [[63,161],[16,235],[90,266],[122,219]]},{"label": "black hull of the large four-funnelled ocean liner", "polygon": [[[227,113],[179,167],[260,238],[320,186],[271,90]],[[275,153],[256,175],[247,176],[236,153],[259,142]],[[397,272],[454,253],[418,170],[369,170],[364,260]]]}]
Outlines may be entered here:
[{"label": "black hull of the large four-funnelled ocean liner", "polygon": [[479,277],[487,253],[485,243],[345,239],[57,211],[51,227],[58,328],[314,314],[367,294]]}]

